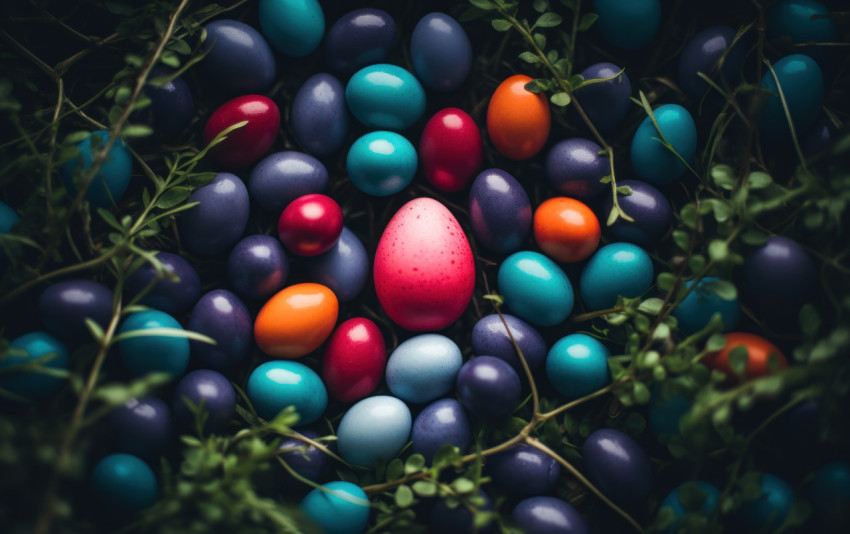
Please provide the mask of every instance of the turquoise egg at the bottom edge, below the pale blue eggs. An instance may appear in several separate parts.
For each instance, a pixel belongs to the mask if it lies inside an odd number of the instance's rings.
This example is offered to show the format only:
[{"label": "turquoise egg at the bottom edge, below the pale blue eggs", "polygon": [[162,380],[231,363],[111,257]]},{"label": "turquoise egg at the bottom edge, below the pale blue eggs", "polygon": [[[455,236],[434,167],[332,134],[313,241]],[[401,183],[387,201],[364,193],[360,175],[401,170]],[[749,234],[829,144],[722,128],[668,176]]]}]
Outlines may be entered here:
[{"label": "turquoise egg at the bottom edge, below the pale blue eggs", "polygon": [[301,510],[325,534],[361,534],[371,511],[366,492],[340,480],[308,493],[301,501]]}]

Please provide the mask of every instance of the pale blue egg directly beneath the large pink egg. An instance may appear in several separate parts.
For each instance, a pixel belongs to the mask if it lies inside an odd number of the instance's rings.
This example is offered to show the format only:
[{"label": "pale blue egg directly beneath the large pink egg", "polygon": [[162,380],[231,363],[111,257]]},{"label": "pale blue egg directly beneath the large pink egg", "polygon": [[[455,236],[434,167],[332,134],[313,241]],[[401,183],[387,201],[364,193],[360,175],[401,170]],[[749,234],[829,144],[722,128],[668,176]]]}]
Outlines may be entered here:
[{"label": "pale blue egg directly beneath the large pink egg", "polygon": [[463,355],[454,341],[439,334],[422,334],[390,355],[387,386],[408,402],[428,402],[451,391],[461,365]]}]

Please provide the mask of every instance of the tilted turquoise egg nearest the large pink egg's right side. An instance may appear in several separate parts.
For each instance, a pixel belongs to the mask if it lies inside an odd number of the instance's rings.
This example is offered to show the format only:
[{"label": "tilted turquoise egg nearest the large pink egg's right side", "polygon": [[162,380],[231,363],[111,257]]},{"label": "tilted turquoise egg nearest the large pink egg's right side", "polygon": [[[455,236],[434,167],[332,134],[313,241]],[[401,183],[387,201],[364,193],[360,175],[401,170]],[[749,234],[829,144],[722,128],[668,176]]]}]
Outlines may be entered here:
[{"label": "tilted turquoise egg nearest the large pink egg's right side", "polygon": [[553,326],[573,311],[573,286],[558,265],[539,252],[523,250],[499,266],[499,293],[515,315],[537,326]]}]

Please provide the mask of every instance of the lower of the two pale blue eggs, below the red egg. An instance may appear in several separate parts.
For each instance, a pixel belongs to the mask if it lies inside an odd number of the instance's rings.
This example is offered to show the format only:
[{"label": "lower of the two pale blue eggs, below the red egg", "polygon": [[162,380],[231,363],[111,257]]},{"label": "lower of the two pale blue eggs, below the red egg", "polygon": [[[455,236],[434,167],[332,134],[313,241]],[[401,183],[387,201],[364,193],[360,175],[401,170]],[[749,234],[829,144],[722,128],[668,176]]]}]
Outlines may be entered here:
[{"label": "lower of the two pale blue eggs, below the red egg", "polygon": [[367,397],[349,408],[339,422],[339,454],[364,467],[374,467],[378,458],[389,462],[407,443],[412,424],[410,410],[401,400],[388,395]]}]

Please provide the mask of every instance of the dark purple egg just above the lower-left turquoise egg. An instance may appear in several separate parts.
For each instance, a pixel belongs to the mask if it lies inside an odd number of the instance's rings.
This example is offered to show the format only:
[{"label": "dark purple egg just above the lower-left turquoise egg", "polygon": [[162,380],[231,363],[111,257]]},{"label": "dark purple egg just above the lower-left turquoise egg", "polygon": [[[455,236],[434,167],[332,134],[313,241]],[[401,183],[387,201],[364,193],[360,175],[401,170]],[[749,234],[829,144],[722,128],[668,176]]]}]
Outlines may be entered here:
[{"label": "dark purple egg just above the lower-left turquoise egg", "polygon": [[106,418],[118,452],[143,458],[159,456],[173,435],[171,410],[157,397],[131,399],[118,406]]}]

